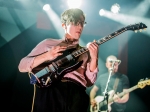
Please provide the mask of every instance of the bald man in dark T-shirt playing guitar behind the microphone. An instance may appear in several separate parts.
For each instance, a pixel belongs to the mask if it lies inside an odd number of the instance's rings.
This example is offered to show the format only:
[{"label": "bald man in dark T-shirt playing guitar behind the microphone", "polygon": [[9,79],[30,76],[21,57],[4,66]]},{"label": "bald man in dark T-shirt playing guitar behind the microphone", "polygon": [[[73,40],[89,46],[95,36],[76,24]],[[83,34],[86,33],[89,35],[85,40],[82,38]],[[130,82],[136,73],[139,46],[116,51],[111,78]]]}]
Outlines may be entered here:
[{"label": "bald man in dark T-shirt playing guitar behind the microphone", "polygon": [[[91,102],[91,108],[90,111],[91,112],[124,112],[125,108],[126,108],[126,102],[129,99],[129,93],[125,94],[123,97],[119,97],[117,95],[117,93],[121,93],[123,91],[127,91],[127,89],[129,88],[129,80],[128,77],[124,74],[120,74],[118,73],[118,65],[120,64],[121,61],[118,61],[118,59],[113,56],[110,55],[107,57],[106,59],[106,67],[108,68],[108,73],[105,74],[101,74],[95,85],[93,86],[93,88],[90,91],[90,102]],[[108,88],[107,88],[107,92],[108,92],[108,100],[110,98],[113,98],[114,101],[111,103],[108,103],[107,105],[105,105],[106,107],[104,108],[101,107],[102,104],[98,103],[104,100],[104,91],[106,89],[106,84],[108,81],[108,77],[109,77],[109,72],[112,69],[112,64],[113,65],[113,71],[111,73],[110,76],[110,80],[108,83]],[[115,93],[112,93],[113,90]],[[110,93],[111,92],[111,93]],[[95,96],[99,96],[101,95],[101,98],[95,98]],[[101,100],[101,101],[100,101]],[[105,103],[107,102],[107,99],[105,99]],[[107,110],[105,110],[107,109]]]}]

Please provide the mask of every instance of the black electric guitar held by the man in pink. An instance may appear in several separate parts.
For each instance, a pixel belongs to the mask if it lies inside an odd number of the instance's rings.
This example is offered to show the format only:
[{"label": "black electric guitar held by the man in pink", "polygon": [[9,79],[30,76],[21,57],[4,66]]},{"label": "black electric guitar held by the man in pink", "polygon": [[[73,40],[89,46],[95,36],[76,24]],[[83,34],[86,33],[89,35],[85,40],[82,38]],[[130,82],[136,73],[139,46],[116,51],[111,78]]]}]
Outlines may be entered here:
[{"label": "black electric guitar held by the man in pink", "polygon": [[[127,27],[123,27],[115,31],[114,33],[109,34],[108,36],[97,40],[96,43],[98,45],[101,45],[125,31],[131,30],[136,32],[145,28],[147,28],[147,26],[142,22],[128,25]],[[48,87],[54,82],[57,83],[66,73],[74,71],[82,65],[83,61],[77,61],[77,59],[85,52],[88,52],[88,48],[82,47],[81,49],[75,50],[73,52],[63,53],[62,56],[57,57],[52,62],[49,62],[47,64],[44,63],[45,67],[41,68],[38,71],[34,68],[32,72],[29,73],[30,83],[36,84],[39,87]]]}]

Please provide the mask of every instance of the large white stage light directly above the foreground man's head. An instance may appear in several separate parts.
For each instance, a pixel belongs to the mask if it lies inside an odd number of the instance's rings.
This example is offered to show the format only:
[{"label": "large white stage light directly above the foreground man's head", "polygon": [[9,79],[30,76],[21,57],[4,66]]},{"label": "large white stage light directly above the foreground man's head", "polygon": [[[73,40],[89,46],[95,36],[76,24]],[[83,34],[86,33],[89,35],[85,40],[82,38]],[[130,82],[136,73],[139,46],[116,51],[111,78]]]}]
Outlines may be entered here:
[{"label": "large white stage light directly above the foreground man's head", "polygon": [[68,0],[67,1],[69,8],[79,8],[81,6],[81,0]]}]

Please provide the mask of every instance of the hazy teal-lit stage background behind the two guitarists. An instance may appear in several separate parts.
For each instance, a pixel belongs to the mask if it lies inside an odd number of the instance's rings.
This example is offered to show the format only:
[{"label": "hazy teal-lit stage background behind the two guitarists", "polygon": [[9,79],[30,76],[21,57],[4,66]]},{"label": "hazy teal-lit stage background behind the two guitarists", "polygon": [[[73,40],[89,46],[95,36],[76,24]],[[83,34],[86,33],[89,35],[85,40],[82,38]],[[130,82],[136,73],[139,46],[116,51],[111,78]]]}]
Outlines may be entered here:
[{"label": "hazy teal-lit stage background behind the two guitarists", "polygon": [[[58,22],[52,22],[42,10],[46,2],[59,17],[68,9],[66,0],[0,0],[0,108],[5,112],[31,111],[34,87],[29,83],[28,74],[19,72],[18,64],[43,39],[60,38],[54,27]],[[130,18],[99,15],[101,8],[110,11],[115,3],[120,4],[120,14]],[[129,77],[131,87],[140,79],[149,78],[150,0],[82,0],[80,8],[88,23],[81,36],[83,46],[129,24],[143,22],[147,25],[146,31],[126,31],[100,45],[99,74],[107,71],[105,60],[112,54],[121,59],[119,71]],[[114,20],[115,17],[119,20]],[[88,94],[91,88],[87,88]],[[149,95],[149,83],[132,91],[126,112],[150,112]]]}]

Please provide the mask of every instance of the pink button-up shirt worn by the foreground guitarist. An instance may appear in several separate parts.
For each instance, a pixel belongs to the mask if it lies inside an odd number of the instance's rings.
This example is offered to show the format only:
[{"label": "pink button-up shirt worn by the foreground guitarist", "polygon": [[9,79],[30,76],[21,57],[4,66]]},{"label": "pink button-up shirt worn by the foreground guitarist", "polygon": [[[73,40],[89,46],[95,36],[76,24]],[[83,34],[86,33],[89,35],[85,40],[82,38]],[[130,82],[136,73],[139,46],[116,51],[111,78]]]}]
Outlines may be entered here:
[{"label": "pink button-up shirt worn by the foreground guitarist", "polygon": [[[51,47],[58,45],[61,43],[63,39],[45,39],[40,42],[29,54],[24,57],[18,66],[20,72],[31,72],[31,65],[34,62],[35,57],[38,54],[47,52],[51,49]],[[64,77],[75,79],[80,82],[84,87],[90,87],[94,84],[97,78],[98,68],[96,68],[93,72],[90,71],[90,61],[87,61],[88,55],[87,53],[82,54],[81,60],[86,60],[83,62],[83,65],[79,67],[77,70],[69,72],[64,75]],[[84,73],[83,73],[84,71]]]}]

